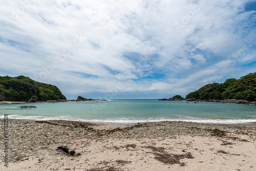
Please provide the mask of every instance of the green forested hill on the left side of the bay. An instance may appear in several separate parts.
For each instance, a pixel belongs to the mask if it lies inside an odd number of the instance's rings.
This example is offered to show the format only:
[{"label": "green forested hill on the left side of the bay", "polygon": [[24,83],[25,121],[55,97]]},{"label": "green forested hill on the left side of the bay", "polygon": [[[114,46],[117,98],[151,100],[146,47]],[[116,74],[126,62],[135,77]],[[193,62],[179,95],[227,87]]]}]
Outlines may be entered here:
[{"label": "green forested hill on the left side of the bay", "polygon": [[46,101],[65,99],[56,86],[25,76],[0,76],[0,101]]}]

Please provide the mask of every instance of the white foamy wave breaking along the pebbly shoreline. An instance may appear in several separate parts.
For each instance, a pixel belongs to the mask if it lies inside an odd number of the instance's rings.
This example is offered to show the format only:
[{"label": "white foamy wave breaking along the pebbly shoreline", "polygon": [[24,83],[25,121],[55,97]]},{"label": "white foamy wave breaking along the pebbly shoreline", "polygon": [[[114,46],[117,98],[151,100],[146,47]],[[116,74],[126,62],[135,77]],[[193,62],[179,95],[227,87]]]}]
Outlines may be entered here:
[{"label": "white foamy wave breaking along the pebbly shoreline", "polygon": [[[0,116],[1,119],[4,116]],[[221,124],[234,124],[234,123],[249,123],[256,122],[256,119],[200,119],[188,117],[184,119],[164,119],[164,118],[149,118],[149,119],[131,119],[131,118],[116,118],[116,119],[81,119],[72,118],[71,116],[58,116],[58,117],[44,117],[44,116],[22,116],[22,115],[9,115],[9,119],[29,119],[29,120],[69,120],[81,122],[94,122],[94,123],[146,123],[146,122],[161,122],[161,121],[185,121],[197,123],[221,123]]]}]

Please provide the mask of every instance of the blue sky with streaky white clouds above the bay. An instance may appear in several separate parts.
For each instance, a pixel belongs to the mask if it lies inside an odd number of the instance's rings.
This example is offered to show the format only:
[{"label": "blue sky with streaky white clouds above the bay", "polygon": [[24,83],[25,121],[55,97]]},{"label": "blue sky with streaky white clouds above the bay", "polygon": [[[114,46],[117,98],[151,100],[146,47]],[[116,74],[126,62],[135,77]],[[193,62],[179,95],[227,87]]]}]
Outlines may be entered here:
[{"label": "blue sky with streaky white clouds above the bay", "polygon": [[1,1],[0,75],[68,98],[185,97],[256,72],[256,1]]}]

